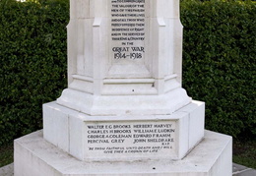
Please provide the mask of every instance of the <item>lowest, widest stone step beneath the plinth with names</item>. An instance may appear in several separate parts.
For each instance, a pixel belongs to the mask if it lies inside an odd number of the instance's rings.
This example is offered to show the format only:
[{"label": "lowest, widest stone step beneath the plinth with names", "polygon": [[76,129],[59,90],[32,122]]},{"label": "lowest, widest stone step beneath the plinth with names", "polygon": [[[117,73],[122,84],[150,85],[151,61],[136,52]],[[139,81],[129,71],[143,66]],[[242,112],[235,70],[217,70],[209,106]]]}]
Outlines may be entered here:
[{"label": "lowest, widest stone step beneath the plinth with names", "polygon": [[231,176],[232,139],[205,131],[181,160],[80,161],[46,142],[42,130],[15,141],[15,176]]}]

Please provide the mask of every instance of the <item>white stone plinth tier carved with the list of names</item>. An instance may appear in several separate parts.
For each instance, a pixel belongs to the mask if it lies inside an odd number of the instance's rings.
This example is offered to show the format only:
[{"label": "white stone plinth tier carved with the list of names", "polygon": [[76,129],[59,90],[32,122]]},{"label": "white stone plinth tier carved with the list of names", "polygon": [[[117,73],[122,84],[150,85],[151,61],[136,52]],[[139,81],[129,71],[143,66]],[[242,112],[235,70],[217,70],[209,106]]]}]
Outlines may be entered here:
[{"label": "white stone plinth tier carved with the list of names", "polygon": [[205,104],[171,115],[89,116],[43,106],[43,137],[81,160],[181,159],[204,137]]}]

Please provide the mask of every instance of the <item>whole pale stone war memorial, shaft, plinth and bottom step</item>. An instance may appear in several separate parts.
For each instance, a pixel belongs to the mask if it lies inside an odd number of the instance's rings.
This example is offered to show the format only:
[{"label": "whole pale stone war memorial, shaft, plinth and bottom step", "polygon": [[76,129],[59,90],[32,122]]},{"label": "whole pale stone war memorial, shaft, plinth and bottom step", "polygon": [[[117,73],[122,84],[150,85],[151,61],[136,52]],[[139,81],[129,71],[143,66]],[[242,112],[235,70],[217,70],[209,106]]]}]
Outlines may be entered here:
[{"label": "whole pale stone war memorial, shaft, plinth and bottom step", "polygon": [[230,176],[181,63],[178,0],[71,0],[68,88],[15,141],[15,175]]}]

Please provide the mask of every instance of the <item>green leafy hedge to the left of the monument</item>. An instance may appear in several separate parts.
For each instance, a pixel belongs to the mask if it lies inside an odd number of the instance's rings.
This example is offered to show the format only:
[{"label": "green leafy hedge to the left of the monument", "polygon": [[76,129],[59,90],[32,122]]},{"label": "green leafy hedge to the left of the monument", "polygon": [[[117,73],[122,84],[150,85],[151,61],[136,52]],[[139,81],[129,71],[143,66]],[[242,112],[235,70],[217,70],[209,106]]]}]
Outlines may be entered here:
[{"label": "green leafy hedge to the left of the monument", "polygon": [[0,1],[0,145],[42,128],[66,87],[67,0]]}]

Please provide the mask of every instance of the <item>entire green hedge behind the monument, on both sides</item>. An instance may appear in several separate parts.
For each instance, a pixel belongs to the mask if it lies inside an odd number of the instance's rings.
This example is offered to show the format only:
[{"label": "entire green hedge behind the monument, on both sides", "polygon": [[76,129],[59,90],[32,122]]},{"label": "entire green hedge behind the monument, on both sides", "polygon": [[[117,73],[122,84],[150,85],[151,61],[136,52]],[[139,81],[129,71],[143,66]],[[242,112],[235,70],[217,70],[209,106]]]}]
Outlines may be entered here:
[{"label": "entire green hedge behind the monument, on both sides", "polygon": [[[0,145],[42,128],[66,88],[68,0],[0,1]],[[207,129],[255,137],[255,3],[181,3],[183,87],[206,102]]]}]

